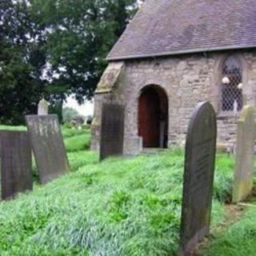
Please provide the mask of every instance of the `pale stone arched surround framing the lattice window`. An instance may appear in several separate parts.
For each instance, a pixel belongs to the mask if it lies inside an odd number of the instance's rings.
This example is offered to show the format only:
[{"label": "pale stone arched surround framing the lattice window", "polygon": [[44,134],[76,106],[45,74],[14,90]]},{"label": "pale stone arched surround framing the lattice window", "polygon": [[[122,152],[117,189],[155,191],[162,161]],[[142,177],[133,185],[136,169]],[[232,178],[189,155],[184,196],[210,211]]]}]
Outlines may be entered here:
[{"label": "pale stone arched surround framing the lattice window", "polygon": [[[226,58],[229,58],[230,56],[234,56],[235,58],[238,58],[238,61],[241,63],[242,66],[242,84],[247,86],[248,82],[248,67],[246,63],[246,59],[242,54],[237,53],[228,53],[223,54],[220,56],[214,66],[214,109],[217,113],[218,119],[225,119],[225,118],[234,118],[234,112],[233,111],[222,111],[221,109],[221,100],[222,100],[222,91],[221,87],[219,86],[222,83],[222,68],[224,65],[224,62],[226,61]],[[247,98],[245,94],[245,90],[242,89],[242,99],[243,99],[243,105],[246,105]],[[240,112],[240,111],[239,111]]]}]

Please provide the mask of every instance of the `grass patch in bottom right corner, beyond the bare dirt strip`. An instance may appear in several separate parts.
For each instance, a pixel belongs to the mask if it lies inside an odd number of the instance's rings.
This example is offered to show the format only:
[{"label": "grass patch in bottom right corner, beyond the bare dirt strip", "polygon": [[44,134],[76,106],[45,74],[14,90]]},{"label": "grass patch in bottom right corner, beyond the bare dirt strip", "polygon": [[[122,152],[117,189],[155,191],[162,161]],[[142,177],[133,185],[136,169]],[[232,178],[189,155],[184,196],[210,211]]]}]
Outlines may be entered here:
[{"label": "grass patch in bottom right corner, beyond the bare dirt strip", "polygon": [[254,256],[256,255],[256,206],[240,221],[231,225],[210,243],[210,248],[202,250],[204,256]]}]

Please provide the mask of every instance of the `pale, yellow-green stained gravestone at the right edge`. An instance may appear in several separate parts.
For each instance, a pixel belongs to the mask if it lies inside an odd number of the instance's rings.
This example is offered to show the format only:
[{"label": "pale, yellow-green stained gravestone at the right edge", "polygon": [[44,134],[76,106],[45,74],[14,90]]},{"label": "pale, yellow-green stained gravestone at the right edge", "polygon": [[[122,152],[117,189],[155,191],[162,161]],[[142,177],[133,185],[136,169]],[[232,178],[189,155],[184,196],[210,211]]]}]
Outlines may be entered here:
[{"label": "pale, yellow-green stained gravestone at the right edge", "polygon": [[236,163],[234,170],[233,202],[246,199],[253,190],[255,108],[244,106],[238,119]]}]

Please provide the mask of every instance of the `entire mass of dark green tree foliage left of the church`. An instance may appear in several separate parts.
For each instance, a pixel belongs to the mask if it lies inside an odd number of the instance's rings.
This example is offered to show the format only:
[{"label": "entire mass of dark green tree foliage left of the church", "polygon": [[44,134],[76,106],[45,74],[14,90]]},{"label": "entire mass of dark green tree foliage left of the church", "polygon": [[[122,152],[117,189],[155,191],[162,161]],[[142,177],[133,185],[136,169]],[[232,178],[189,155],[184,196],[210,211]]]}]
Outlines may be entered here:
[{"label": "entire mass of dark green tree foliage left of the church", "polygon": [[20,123],[45,96],[90,99],[106,54],[137,8],[136,0],[0,2],[0,122]]}]

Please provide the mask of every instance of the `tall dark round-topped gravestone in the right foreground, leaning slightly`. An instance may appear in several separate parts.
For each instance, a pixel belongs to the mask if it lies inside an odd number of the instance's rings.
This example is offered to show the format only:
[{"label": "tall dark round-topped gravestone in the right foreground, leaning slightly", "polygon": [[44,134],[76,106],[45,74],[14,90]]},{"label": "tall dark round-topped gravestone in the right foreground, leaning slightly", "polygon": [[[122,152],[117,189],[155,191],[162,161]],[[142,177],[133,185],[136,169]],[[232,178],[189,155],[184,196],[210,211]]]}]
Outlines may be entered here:
[{"label": "tall dark round-topped gravestone in the right foreground, leaning slightly", "polygon": [[186,135],[180,255],[210,233],[217,125],[213,106],[199,103]]}]

